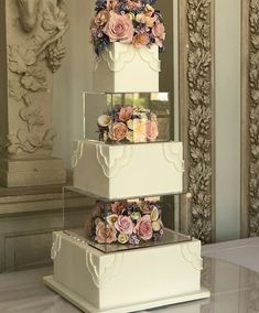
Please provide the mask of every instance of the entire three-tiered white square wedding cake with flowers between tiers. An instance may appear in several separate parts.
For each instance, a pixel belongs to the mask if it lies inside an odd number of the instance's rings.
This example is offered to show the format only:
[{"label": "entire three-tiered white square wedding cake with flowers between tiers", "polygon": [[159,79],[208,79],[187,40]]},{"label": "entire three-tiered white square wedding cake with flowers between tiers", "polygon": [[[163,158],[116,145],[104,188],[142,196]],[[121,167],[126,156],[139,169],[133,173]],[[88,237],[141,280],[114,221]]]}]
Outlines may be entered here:
[{"label": "entire three-tiered white square wedding cake with flowers between tiers", "polygon": [[74,187],[97,201],[80,229],[54,233],[54,276],[44,279],[85,312],[133,312],[209,295],[201,288],[201,242],[162,223],[163,196],[183,192],[183,148],[161,137],[152,105],[169,101],[159,94],[164,26],[154,2],[96,1],[98,93],[85,98],[106,111],[96,117],[99,140],[75,142],[73,166]]}]

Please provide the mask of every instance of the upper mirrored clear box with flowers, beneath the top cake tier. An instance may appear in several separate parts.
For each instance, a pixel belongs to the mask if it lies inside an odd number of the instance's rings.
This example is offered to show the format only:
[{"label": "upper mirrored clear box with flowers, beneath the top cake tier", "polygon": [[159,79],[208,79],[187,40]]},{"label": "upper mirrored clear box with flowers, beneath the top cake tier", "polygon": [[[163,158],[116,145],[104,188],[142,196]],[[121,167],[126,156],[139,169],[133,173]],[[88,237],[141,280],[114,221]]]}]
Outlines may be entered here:
[{"label": "upper mirrored clear box with flowers, beneath the top cake tier", "polygon": [[84,93],[84,138],[107,143],[169,141],[169,93]]}]

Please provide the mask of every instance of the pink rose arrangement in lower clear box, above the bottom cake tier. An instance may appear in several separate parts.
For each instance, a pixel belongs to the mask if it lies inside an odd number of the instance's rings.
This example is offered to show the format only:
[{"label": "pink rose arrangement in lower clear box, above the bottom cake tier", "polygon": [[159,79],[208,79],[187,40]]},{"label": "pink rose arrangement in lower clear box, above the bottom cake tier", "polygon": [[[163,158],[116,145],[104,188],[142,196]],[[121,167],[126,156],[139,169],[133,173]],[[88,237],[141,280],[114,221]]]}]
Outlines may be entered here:
[{"label": "pink rose arrangement in lower clear box, above the bottom cake tier", "polygon": [[97,201],[85,225],[87,235],[93,241],[107,245],[158,241],[163,235],[159,199]]}]

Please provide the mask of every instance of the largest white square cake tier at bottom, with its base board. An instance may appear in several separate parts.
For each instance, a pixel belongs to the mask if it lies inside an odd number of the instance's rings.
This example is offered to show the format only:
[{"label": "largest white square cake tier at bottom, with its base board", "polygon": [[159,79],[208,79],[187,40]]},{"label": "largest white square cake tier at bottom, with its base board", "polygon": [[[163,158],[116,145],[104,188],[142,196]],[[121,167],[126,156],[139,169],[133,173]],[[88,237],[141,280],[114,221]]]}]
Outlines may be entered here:
[{"label": "largest white square cake tier at bottom, with its base board", "polygon": [[58,231],[52,257],[54,276],[45,283],[85,312],[133,312],[209,296],[201,289],[201,242],[195,239],[107,255]]}]

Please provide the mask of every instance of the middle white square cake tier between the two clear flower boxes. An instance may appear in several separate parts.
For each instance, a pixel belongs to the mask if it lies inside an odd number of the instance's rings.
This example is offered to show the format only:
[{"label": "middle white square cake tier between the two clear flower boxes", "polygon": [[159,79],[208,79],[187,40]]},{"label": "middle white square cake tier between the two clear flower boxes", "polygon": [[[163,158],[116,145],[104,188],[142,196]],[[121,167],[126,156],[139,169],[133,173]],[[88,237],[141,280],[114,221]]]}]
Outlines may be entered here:
[{"label": "middle white square cake tier between the two clear flower boxes", "polygon": [[74,143],[74,187],[105,198],[163,195],[183,191],[182,142]]}]

